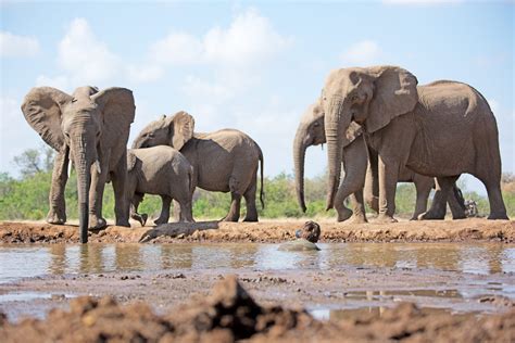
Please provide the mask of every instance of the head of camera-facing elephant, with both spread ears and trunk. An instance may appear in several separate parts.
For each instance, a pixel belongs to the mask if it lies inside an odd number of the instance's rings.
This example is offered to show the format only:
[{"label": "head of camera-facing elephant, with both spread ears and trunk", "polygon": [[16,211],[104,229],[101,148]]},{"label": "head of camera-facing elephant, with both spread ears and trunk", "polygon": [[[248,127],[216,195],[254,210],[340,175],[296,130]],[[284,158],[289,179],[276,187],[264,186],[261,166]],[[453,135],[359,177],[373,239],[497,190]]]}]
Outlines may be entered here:
[{"label": "head of camera-facing elephant, with both spread ears and trunk", "polygon": [[[125,88],[80,87],[70,96],[55,88],[33,88],[22,104],[28,124],[50,147],[70,154],[77,172],[80,240],[87,241],[89,189],[99,161],[124,135],[135,116],[133,92]],[[103,160],[102,160],[103,157]],[[109,173],[109,170],[105,170]]]}]

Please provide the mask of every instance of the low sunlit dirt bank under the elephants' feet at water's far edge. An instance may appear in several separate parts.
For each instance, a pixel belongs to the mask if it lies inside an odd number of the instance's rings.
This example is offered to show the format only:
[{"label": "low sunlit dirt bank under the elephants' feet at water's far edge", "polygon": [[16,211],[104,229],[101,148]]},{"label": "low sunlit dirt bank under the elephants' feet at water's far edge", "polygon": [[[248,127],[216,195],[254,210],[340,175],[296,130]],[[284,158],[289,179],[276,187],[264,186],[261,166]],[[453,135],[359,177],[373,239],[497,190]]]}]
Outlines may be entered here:
[{"label": "low sunlit dirt bank under the elephants' feet at water's far edge", "polygon": [[[110,226],[105,230],[90,232],[90,242],[280,242],[294,237],[304,221],[175,223],[159,227],[133,228]],[[347,224],[321,221],[324,242],[391,242],[391,241],[515,241],[514,220],[463,220],[401,221],[394,224]],[[43,223],[0,223],[1,243],[77,243],[77,226],[56,226]]]}]

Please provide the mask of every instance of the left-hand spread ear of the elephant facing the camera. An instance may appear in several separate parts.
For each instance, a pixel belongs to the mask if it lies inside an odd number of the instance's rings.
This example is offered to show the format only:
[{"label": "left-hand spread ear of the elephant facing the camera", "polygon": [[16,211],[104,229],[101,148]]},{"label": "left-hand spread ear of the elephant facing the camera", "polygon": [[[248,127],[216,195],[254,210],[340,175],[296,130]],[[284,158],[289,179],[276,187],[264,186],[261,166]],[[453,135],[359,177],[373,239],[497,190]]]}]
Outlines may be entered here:
[{"label": "left-hand spread ear of the elephant facing the camera", "polygon": [[61,129],[63,107],[72,102],[72,96],[52,87],[33,88],[22,103],[25,119],[42,140],[61,151],[64,135]]}]

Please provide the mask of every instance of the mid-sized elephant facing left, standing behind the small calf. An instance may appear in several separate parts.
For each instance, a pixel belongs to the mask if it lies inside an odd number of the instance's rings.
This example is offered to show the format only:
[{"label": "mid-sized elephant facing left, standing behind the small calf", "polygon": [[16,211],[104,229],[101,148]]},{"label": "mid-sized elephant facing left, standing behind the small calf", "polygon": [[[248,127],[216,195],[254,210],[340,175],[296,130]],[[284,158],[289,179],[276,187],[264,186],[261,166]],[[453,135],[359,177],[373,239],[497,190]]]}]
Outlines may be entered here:
[{"label": "mid-sized elephant facing left, standing behind the small calf", "polygon": [[[193,166],[193,189],[230,192],[231,203],[225,221],[238,221],[241,196],[244,196],[244,221],[258,221],[255,192],[258,165],[261,162],[261,205],[263,202],[263,153],[258,143],[235,129],[210,134],[193,132],[194,119],[187,112],[162,116],[151,122],[136,137],[134,149],[169,145],[183,153]],[[174,208],[177,206],[174,205]],[[178,214],[175,213],[175,217]]]}]

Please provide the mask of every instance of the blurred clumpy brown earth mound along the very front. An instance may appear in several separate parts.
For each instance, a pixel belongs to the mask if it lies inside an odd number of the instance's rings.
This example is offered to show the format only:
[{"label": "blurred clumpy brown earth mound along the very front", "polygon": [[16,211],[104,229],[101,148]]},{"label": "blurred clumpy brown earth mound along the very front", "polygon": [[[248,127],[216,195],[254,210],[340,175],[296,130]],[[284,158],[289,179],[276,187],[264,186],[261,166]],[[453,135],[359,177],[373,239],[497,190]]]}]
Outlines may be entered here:
[{"label": "blurred clumpy brown earth mound along the very front", "polygon": [[382,314],[314,319],[303,309],[261,306],[229,276],[208,296],[193,296],[166,315],[145,303],[79,297],[68,312],[10,323],[0,315],[2,342],[513,342],[515,310],[477,317],[419,309],[403,303]]}]

